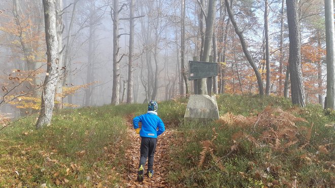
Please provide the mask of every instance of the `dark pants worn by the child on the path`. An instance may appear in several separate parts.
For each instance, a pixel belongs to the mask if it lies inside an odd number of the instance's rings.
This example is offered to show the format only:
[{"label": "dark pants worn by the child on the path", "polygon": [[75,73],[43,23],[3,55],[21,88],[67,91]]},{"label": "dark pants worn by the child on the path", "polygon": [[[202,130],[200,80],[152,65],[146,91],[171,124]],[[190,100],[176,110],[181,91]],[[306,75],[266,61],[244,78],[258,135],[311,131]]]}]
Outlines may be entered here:
[{"label": "dark pants worn by the child on the path", "polygon": [[140,166],[144,166],[148,158],[148,170],[152,170],[156,145],[157,138],[142,137]]}]

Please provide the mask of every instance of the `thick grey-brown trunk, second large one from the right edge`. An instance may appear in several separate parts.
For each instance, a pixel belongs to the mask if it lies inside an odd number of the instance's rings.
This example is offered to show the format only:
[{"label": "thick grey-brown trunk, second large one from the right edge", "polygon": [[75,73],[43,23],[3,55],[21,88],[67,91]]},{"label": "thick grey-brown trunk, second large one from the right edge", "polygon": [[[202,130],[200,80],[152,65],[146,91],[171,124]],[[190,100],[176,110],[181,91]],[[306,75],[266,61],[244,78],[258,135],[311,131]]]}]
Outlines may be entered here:
[{"label": "thick grey-brown trunk, second large one from the right edge", "polygon": [[298,6],[295,0],[286,0],[289,45],[289,70],[293,104],[305,107],[305,89],[301,72],[300,29]]}]

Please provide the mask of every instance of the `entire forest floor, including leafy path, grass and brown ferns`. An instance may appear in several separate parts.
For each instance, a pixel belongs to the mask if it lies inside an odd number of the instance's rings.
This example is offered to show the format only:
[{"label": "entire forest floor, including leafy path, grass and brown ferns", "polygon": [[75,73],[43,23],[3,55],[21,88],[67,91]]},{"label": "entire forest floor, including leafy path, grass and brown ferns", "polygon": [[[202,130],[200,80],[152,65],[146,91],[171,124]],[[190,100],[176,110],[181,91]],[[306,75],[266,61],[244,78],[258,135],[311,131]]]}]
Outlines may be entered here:
[{"label": "entire forest floor, including leafy path, grass and brown ferns", "polygon": [[[335,187],[335,111],[278,97],[217,96],[220,120],[161,102],[154,177],[137,181],[146,104],[65,109],[0,131],[0,187]],[[1,125],[0,125],[1,126]],[[145,166],[146,172],[147,166]]]}]

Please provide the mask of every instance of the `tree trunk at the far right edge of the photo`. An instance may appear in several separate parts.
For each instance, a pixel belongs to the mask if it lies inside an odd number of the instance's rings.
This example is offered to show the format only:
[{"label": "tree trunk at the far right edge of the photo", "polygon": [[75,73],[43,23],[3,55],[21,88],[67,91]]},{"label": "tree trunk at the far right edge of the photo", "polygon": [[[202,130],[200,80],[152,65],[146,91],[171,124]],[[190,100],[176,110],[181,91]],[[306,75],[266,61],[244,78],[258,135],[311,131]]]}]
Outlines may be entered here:
[{"label": "tree trunk at the far right edge of the photo", "polygon": [[326,108],[335,109],[335,57],[334,57],[334,4],[332,0],[324,0],[326,48],[327,48],[327,98]]}]

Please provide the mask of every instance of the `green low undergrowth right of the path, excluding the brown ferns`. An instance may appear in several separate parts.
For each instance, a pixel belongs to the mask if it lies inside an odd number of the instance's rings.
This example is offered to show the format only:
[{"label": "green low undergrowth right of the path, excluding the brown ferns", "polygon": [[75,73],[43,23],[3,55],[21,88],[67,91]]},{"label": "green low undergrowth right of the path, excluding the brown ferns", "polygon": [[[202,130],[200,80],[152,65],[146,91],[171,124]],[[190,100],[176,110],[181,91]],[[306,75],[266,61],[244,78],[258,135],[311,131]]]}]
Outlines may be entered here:
[{"label": "green low undergrowth right of the path, excluding the brown ferns", "polygon": [[[256,116],[268,105],[284,110],[293,107],[290,101],[274,97],[223,95],[217,100],[220,116],[227,112],[246,117]],[[259,146],[255,146],[250,140],[241,137],[234,138],[236,141],[244,141],[228,157],[224,156],[236,143],[232,135],[239,131],[251,133],[253,124],[250,127],[239,127],[218,122],[181,123],[178,139],[183,144],[177,145],[172,152],[175,166],[170,169],[170,182],[188,187],[282,187],[293,186],[294,183],[299,187],[334,186],[334,131],[326,128],[325,123],[334,122],[335,114],[329,115],[329,111],[325,113],[319,105],[308,105],[306,109],[296,110],[294,115],[309,122],[297,123],[298,127],[303,126],[308,130],[314,124],[309,144],[303,149],[299,147],[304,142],[297,142],[284,151],[276,151],[266,143],[260,142]],[[207,152],[204,163],[199,166],[200,153],[205,145],[203,141],[214,138],[213,128],[217,133],[210,146],[213,155]],[[299,138],[306,140],[307,132],[298,132]],[[260,133],[256,130],[253,136],[257,137]],[[320,152],[319,145],[327,145],[328,151]]]}]

